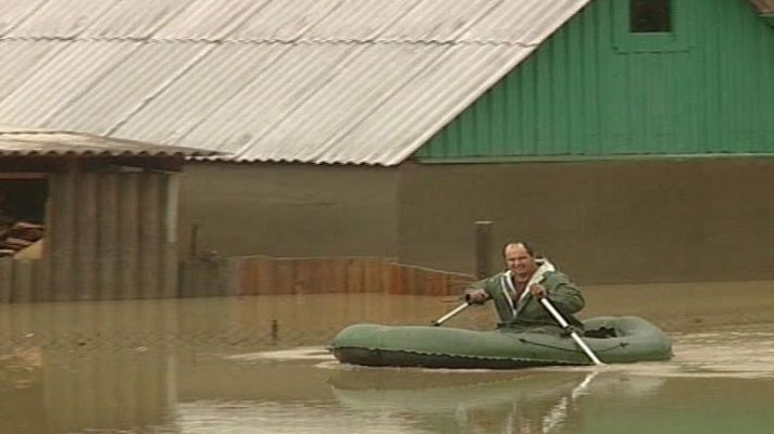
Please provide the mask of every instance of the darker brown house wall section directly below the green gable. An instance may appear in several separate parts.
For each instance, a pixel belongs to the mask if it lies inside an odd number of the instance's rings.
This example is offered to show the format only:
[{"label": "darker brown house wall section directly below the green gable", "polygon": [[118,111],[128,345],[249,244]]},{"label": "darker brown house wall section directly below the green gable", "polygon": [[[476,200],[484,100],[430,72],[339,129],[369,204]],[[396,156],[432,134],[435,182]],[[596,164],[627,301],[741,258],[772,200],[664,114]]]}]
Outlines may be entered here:
[{"label": "darker brown house wall section directly below the green gable", "polygon": [[774,161],[402,167],[401,263],[473,272],[474,225],[579,283],[774,278]]}]

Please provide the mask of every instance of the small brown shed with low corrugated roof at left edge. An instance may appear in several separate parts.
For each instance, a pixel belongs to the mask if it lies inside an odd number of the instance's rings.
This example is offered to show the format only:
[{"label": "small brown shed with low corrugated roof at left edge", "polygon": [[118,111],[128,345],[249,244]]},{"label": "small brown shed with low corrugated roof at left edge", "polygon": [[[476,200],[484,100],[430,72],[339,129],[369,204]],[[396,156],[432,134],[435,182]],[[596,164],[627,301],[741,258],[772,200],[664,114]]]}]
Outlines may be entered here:
[{"label": "small brown shed with low corrugated roof at left edge", "polygon": [[0,303],[175,296],[179,173],[211,154],[0,127]]}]

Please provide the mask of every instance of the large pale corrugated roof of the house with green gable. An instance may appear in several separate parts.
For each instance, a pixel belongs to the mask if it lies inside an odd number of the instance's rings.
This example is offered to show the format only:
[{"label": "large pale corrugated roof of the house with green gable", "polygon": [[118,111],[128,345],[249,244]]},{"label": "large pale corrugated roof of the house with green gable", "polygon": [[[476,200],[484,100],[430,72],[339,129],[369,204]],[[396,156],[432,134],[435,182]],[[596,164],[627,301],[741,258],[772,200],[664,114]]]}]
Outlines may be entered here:
[{"label": "large pale corrugated roof of the house with green gable", "polygon": [[395,165],[589,0],[7,0],[0,122]]}]

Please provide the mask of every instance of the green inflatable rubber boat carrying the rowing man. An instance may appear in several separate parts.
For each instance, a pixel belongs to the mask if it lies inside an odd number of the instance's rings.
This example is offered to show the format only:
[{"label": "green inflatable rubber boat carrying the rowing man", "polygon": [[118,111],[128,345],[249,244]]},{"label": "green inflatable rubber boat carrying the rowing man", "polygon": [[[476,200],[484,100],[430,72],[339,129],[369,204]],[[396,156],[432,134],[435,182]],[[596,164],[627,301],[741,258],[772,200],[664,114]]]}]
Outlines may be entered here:
[{"label": "green inflatable rubber boat carrying the rowing man", "polygon": [[[584,322],[583,341],[604,363],[661,361],[672,342],[639,317],[597,317]],[[597,336],[597,337],[591,337]],[[446,327],[354,324],[330,349],[341,362],[371,367],[517,369],[591,365],[570,336],[502,328],[473,331]]]}]

